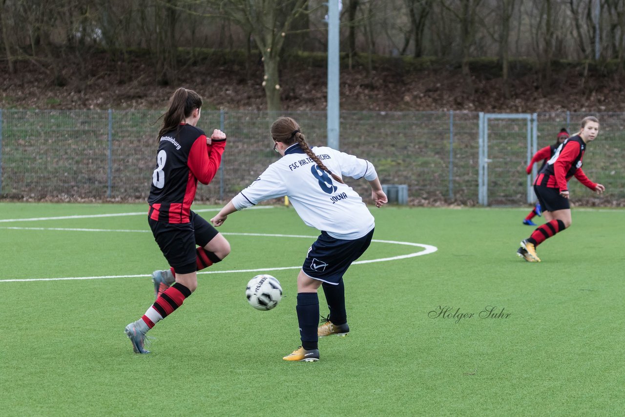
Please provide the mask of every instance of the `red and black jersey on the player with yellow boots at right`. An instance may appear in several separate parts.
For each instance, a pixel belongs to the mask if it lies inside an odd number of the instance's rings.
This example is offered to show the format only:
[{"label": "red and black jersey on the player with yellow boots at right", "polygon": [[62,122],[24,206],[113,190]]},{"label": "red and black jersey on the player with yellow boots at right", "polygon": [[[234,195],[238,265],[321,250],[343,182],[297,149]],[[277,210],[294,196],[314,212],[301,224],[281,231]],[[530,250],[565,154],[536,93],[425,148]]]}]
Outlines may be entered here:
[{"label": "red and black jersey on the player with yellow boots at right", "polygon": [[566,139],[541,169],[534,184],[559,188],[561,192],[568,191],[568,181],[575,176],[577,181],[594,190],[597,184],[588,179],[582,171],[585,151],[586,143],[579,135]]}]

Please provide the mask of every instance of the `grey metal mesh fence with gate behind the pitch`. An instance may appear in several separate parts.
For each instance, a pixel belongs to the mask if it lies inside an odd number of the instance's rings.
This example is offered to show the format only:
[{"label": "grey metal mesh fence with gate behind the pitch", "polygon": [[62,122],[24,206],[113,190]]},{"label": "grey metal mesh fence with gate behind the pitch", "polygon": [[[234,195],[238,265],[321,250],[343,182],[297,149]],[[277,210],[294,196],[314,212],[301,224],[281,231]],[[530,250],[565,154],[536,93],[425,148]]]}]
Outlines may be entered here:
[{"label": "grey metal mesh fence with gate behind the pitch", "polygon": [[[1,110],[0,196],[14,199],[146,199],[155,166],[157,111]],[[326,144],[326,112],[288,112],[312,146]],[[228,136],[216,178],[197,200],[229,199],[276,160],[276,114],[202,111],[199,127]],[[576,133],[587,113],[342,112],[341,151],[369,159],[382,184],[407,184],[412,204],[523,204],[534,196],[524,168],[559,129]],[[527,117],[526,117],[527,116]],[[601,198],[571,181],[574,201],[625,201],[625,114],[595,113],[601,131],[584,171],[606,186]],[[486,122],[485,122],[486,121]],[[484,129],[486,128],[486,129]],[[368,196],[366,181],[347,179]],[[529,193],[528,193],[529,189]],[[486,194],[485,194],[486,193]]]}]

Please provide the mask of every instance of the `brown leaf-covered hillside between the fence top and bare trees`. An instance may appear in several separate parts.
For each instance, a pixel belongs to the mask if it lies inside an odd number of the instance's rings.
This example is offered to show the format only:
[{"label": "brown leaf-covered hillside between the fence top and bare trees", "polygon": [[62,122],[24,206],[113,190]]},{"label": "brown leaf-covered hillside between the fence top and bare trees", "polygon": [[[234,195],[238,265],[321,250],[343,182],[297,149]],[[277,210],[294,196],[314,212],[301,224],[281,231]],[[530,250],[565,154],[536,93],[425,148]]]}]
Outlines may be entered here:
[{"label": "brown leaf-covered hillside between the fence top and bare trees", "polygon": [[[74,60],[75,61],[75,60]],[[0,108],[37,109],[161,109],[178,86],[195,89],[207,109],[266,109],[260,61],[247,63],[240,54],[209,53],[183,60],[178,79],[162,85],[153,65],[141,54],[124,62],[94,53],[88,61],[68,63],[60,82],[40,64],[16,63],[8,73],[0,63]],[[379,58],[367,74],[366,61],[341,69],[341,109],[346,111],[489,111],[489,112],[621,112],[619,96],[625,81],[606,71],[588,71],[584,64],[561,64],[549,85],[538,71],[511,65],[511,97],[502,93],[494,60],[472,64],[474,94],[466,93],[457,66],[427,59]],[[326,109],[326,68],[323,56],[291,56],[282,60],[283,111]],[[604,75],[598,76],[597,74]],[[586,74],[584,76],[584,74]]]}]

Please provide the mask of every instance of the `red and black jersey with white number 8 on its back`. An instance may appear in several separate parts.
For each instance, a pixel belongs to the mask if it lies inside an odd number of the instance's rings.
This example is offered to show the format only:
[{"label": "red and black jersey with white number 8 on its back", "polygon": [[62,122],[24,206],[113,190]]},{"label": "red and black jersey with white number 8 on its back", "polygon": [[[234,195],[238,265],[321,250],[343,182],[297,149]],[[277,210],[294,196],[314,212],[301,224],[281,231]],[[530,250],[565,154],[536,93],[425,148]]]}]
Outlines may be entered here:
[{"label": "red and black jersey with white number 8 on its back", "polygon": [[156,168],[148,197],[149,218],[166,223],[189,223],[197,181],[211,182],[219,169],[226,139],[206,144],[206,134],[190,124],[159,139]]}]

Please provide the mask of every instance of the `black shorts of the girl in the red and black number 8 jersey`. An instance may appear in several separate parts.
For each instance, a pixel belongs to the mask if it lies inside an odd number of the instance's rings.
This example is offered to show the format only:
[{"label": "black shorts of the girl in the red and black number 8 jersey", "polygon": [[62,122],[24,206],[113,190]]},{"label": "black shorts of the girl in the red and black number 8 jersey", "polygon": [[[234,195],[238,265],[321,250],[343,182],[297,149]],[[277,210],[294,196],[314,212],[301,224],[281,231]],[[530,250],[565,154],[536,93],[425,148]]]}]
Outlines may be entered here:
[{"label": "black shorts of the girl in the red and black number 8 jersey", "polygon": [[196,246],[206,246],[219,233],[212,224],[192,211],[189,223],[164,223],[151,218],[148,218],[148,223],[169,266],[179,274],[197,271]]}]

